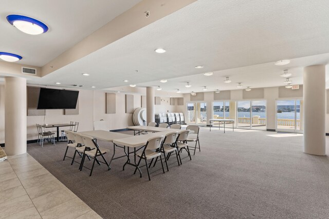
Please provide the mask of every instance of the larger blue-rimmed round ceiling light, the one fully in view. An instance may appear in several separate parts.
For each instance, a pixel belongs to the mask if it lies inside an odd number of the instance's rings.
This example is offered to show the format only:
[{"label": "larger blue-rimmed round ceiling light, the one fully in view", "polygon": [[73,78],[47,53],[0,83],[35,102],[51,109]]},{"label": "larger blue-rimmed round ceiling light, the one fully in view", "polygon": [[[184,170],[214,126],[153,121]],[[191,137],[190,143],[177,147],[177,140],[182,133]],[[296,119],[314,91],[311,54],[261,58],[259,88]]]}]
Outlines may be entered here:
[{"label": "larger blue-rimmed round ceiling light, the one fully in view", "polygon": [[10,14],[7,16],[7,21],[20,31],[31,35],[38,35],[48,31],[48,27],[44,23],[23,15]]}]

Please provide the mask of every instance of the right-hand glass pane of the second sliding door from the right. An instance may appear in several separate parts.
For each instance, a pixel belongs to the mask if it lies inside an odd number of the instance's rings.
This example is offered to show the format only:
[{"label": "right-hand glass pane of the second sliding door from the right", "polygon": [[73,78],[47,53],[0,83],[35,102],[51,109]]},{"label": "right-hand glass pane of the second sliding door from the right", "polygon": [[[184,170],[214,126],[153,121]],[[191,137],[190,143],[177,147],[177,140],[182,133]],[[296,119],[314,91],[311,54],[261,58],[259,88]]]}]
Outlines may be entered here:
[{"label": "right-hand glass pane of the second sliding door from the right", "polygon": [[266,101],[251,101],[251,127],[266,130]]}]

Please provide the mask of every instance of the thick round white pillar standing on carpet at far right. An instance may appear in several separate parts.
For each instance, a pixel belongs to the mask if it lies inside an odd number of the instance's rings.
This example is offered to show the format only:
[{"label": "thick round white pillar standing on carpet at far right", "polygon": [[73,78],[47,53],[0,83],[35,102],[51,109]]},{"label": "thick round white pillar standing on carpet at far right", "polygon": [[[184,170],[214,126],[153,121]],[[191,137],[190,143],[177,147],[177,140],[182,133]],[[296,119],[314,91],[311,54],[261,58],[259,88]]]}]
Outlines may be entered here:
[{"label": "thick round white pillar standing on carpet at far right", "polygon": [[304,68],[304,152],[325,155],[325,66]]}]

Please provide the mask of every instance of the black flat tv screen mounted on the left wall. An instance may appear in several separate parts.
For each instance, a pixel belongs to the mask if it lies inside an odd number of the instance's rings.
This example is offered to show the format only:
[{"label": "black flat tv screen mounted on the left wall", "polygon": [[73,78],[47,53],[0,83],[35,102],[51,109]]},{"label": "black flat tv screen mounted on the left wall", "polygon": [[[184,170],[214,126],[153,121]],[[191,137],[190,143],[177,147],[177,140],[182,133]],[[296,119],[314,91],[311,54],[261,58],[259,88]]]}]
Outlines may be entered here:
[{"label": "black flat tv screen mounted on the left wall", "polygon": [[37,109],[76,109],[79,91],[40,88]]}]

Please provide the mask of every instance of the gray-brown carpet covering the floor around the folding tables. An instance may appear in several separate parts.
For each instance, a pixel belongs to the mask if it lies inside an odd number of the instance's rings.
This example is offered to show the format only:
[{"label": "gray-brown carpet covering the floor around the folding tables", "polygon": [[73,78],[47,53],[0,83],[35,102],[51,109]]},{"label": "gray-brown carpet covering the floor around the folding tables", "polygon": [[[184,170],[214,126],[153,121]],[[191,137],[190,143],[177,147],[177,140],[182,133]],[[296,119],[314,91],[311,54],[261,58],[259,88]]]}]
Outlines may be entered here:
[{"label": "gray-brown carpet covering the floor around the folding tables", "polygon": [[[62,161],[64,143],[27,148],[104,218],[329,218],[329,158],[303,153],[302,136],[268,136],[272,134],[277,133],[224,134],[202,128],[202,151],[181,166],[171,157],[165,174],[158,162],[151,181],[145,167],[142,178],[133,175],[132,166],[122,171],[125,158],[115,160],[109,171],[95,166],[89,177],[89,170],[70,166],[69,158]],[[111,149],[109,160],[112,144],[100,145]]]}]

